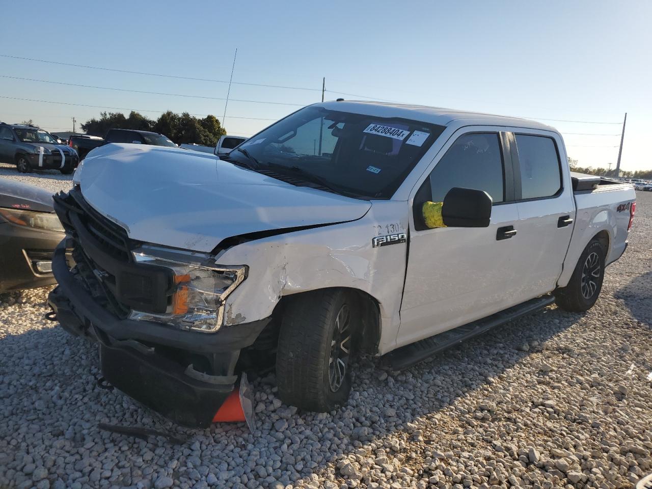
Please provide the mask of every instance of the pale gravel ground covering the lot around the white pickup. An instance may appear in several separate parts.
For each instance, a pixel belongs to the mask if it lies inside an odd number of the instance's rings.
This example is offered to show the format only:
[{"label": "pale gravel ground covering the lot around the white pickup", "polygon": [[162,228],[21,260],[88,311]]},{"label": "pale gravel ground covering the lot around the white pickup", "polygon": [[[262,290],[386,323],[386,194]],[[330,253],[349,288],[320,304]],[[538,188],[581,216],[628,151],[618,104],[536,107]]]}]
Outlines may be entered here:
[{"label": "pale gravel ground covering the lot around the white pickup", "polygon": [[652,470],[651,243],[652,193],[638,192],[629,249],[587,314],[550,306],[398,374],[363,359],[329,414],[297,413],[258,379],[253,434],[179,428],[98,389],[96,349],[43,319],[47,289],[0,295],[0,487],[631,487]]}]

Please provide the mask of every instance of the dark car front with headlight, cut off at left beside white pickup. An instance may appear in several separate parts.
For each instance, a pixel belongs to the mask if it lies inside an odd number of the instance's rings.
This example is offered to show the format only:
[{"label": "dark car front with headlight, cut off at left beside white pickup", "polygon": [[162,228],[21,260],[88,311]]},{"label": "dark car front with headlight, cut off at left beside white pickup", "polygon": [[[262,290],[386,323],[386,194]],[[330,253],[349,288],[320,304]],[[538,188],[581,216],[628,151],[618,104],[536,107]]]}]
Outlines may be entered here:
[{"label": "dark car front with headlight, cut off at left beside white pickup", "polygon": [[52,253],[64,237],[51,192],[0,179],[0,292],[55,284]]}]

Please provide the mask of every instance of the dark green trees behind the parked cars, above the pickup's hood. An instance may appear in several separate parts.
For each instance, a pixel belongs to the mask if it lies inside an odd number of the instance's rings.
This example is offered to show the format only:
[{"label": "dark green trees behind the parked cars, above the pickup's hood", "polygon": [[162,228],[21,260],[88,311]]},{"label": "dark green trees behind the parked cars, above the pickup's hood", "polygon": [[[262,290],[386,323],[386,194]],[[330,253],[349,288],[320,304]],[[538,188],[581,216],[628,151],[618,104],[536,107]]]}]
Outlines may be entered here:
[{"label": "dark green trees behind the parked cars, above the pickup's hood", "polygon": [[160,132],[176,144],[197,143],[215,146],[226,130],[215,115],[200,119],[184,112],[181,115],[168,110],[154,121],[141,113],[131,111],[128,117],[121,112],[100,112],[100,117],[89,119],[82,124],[82,130],[91,136],[104,137],[109,129],[132,129]]}]

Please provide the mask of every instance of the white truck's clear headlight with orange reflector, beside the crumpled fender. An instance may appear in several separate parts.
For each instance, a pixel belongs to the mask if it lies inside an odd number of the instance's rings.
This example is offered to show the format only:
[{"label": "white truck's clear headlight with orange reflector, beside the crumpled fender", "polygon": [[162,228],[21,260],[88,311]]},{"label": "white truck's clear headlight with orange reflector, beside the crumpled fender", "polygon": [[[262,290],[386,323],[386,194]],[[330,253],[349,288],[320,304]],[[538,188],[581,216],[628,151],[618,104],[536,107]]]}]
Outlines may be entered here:
[{"label": "white truck's clear headlight with orange reflector, beside the crumpled fender", "polygon": [[132,311],[129,319],[156,321],[182,329],[215,333],[224,323],[224,303],[246,278],[247,267],[212,265],[207,256],[155,250],[134,251],[138,263],[173,272],[173,293],[166,314]]}]

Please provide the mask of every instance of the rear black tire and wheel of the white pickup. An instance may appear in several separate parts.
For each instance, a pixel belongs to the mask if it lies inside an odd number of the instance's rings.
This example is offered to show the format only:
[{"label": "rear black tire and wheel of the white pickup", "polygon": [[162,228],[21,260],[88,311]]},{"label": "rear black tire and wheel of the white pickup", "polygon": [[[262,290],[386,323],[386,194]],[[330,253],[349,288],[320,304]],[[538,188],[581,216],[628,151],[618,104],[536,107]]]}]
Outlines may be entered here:
[{"label": "rear black tire and wheel of the white pickup", "polygon": [[567,286],[553,293],[559,308],[571,312],[589,310],[598,300],[604,280],[604,250],[593,239],[582,252]]}]

